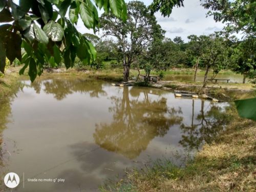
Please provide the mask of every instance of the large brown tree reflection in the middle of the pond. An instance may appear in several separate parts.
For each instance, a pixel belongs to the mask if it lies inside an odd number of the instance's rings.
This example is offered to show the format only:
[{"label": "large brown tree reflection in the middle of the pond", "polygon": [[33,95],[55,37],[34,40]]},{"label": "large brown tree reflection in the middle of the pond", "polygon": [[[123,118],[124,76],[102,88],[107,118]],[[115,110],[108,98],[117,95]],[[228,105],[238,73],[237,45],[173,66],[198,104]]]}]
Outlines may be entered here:
[{"label": "large brown tree reflection in the middle of the pond", "polygon": [[172,125],[182,121],[180,108],[169,109],[164,97],[151,100],[150,92],[149,89],[124,87],[121,97],[111,97],[114,106],[109,111],[113,121],[96,124],[95,142],[108,151],[133,159],[153,138],[164,136]]}]

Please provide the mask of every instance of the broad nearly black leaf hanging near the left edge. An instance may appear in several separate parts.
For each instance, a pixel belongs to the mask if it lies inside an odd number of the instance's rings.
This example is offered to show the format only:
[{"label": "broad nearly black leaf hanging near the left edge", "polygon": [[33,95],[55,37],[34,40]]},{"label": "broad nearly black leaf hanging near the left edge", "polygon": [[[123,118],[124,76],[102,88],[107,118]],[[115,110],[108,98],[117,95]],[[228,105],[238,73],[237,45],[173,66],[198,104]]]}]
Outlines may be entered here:
[{"label": "broad nearly black leaf hanging near the left edge", "polygon": [[6,56],[11,64],[15,58],[22,60],[22,37],[16,33],[11,32],[6,40]]}]

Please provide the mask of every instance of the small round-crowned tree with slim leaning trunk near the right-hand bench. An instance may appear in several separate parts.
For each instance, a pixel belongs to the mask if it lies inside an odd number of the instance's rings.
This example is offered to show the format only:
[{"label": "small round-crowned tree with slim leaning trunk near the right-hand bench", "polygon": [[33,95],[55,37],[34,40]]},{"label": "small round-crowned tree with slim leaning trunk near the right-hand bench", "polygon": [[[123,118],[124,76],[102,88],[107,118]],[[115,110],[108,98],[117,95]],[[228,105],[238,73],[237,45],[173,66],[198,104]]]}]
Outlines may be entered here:
[{"label": "small round-crowned tree with slim leaning trunk near the right-hand bench", "polygon": [[202,60],[206,68],[203,88],[206,86],[207,75],[210,68],[222,68],[228,62],[228,47],[223,37],[218,34],[201,36]]}]

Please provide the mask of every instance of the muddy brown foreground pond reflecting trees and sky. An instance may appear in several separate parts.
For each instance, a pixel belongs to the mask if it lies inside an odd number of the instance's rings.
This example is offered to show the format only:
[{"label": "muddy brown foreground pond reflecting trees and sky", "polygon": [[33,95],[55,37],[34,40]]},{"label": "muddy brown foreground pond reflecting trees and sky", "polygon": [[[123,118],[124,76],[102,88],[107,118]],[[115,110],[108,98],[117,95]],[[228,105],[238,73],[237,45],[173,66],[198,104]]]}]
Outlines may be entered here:
[{"label": "muddy brown foreground pond reflecting trees and sky", "polygon": [[182,165],[223,129],[228,105],[76,77],[23,82],[0,112],[2,174],[20,177],[13,191],[97,191],[158,158]]}]

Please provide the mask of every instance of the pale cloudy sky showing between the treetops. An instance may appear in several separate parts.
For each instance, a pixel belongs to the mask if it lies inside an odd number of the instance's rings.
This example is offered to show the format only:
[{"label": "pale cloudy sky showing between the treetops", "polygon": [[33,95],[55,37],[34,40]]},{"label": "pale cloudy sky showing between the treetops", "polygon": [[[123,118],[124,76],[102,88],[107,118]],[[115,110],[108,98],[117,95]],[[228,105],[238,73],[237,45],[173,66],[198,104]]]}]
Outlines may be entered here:
[{"label": "pale cloudy sky showing between the treetops", "polygon": [[[142,2],[148,6],[152,1],[143,0]],[[158,24],[166,31],[165,37],[173,39],[181,36],[184,41],[187,41],[187,36],[191,34],[207,35],[222,30],[224,24],[216,23],[212,16],[206,17],[207,12],[200,5],[199,0],[184,0],[184,7],[175,7],[170,17],[163,17],[160,12],[155,13],[155,16]],[[99,13],[102,13],[102,10]],[[81,33],[93,33],[93,30],[88,30],[83,26],[80,19],[76,28]],[[100,36],[100,33],[96,35]]]}]

